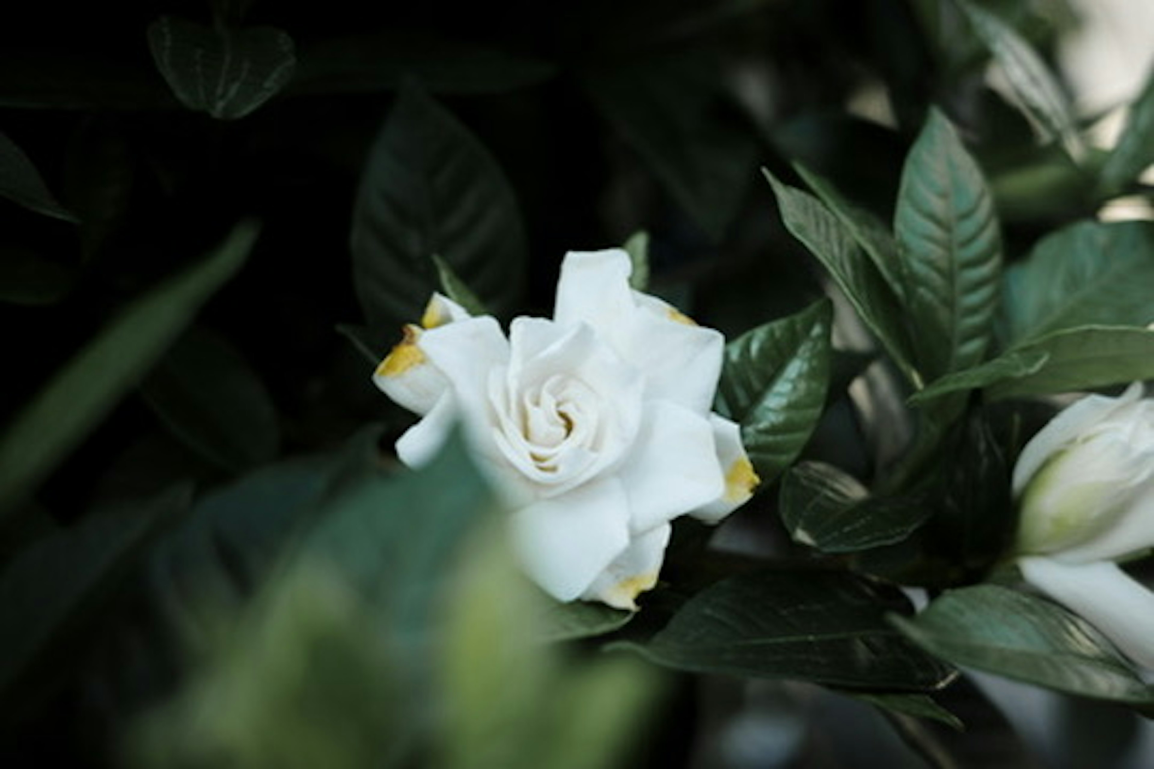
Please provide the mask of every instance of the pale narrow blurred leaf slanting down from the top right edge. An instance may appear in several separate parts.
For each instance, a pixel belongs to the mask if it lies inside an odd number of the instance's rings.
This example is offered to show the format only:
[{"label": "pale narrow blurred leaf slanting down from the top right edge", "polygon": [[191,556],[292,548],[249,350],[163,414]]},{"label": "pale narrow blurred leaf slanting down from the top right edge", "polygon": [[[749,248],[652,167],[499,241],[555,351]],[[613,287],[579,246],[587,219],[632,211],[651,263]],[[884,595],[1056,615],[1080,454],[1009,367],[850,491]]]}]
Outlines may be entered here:
[{"label": "pale narrow blurred leaf slanting down from the top right edge", "polygon": [[1078,120],[1057,78],[1031,44],[1017,30],[969,0],[956,0],[973,24],[1022,111],[1042,128],[1046,138],[1058,138],[1070,156],[1085,154]]}]

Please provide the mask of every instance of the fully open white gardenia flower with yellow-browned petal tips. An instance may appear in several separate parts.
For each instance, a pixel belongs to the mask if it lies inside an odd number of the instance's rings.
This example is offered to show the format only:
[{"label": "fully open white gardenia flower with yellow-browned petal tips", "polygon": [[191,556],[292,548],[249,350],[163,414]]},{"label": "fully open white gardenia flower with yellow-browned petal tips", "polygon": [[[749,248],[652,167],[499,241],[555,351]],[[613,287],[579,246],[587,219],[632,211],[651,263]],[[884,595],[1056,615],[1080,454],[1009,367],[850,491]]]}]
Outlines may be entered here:
[{"label": "fully open white gardenia flower with yellow-browned petal tips", "polygon": [[758,483],[737,424],[710,410],[722,336],[631,289],[630,269],[621,249],[568,254],[553,319],[518,317],[508,338],[434,294],[373,377],[422,417],[403,462],[462,420],[530,576],[622,609],[655,585],[670,520],[717,522]]}]

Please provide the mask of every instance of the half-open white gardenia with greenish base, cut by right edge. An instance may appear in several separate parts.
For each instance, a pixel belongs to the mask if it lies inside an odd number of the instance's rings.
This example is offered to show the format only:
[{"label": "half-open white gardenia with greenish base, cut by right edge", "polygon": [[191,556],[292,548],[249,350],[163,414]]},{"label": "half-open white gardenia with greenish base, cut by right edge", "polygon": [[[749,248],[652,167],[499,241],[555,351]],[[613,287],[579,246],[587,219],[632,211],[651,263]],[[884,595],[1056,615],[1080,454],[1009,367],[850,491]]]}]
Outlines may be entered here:
[{"label": "half-open white gardenia with greenish base, cut by right edge", "polygon": [[1154,594],[1116,561],[1154,548],[1154,401],[1089,395],[1026,444],[1013,472],[1018,565],[1033,586],[1154,670]]}]

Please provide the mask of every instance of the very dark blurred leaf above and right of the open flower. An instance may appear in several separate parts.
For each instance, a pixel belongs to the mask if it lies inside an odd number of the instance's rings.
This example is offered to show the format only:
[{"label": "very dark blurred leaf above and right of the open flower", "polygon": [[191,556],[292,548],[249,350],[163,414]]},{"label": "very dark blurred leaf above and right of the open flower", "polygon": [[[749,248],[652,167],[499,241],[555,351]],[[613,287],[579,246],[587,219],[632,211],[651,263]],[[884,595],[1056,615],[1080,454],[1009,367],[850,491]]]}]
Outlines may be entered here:
[{"label": "very dark blurred leaf above and right of the open flower", "polygon": [[754,181],[758,148],[724,88],[719,62],[682,48],[591,69],[584,84],[673,197],[720,239]]}]

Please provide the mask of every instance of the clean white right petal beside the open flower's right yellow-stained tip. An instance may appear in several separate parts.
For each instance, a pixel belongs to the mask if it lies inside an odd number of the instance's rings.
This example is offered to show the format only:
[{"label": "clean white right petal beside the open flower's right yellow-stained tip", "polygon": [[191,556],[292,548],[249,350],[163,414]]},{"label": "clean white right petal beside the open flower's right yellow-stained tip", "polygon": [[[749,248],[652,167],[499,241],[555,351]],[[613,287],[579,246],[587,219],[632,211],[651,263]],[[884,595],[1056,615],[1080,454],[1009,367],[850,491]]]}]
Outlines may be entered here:
[{"label": "clean white right petal beside the open flower's right yellow-stained tip", "polygon": [[720,497],[725,476],[710,421],[672,401],[646,405],[642,432],[619,470],[630,529],[649,529]]}]

